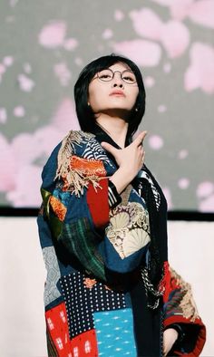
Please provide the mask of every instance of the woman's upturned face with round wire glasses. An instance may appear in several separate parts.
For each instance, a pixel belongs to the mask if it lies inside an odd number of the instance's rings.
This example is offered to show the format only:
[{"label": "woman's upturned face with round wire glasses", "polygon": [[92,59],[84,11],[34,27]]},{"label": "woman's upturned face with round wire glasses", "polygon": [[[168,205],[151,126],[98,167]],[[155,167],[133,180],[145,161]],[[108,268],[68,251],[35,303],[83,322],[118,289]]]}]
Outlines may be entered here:
[{"label": "woman's upturned face with round wire glasses", "polygon": [[133,74],[129,77],[129,72],[127,72],[127,76],[125,75],[126,82],[122,81],[120,72],[131,71],[125,63],[115,63],[109,68],[112,72],[119,71],[114,73],[111,81],[102,82],[102,78],[110,79],[103,72],[101,79],[96,74],[89,84],[88,102],[92,111],[97,115],[108,111],[115,111],[115,114],[118,110],[131,111],[139,93],[137,82],[132,83]]}]

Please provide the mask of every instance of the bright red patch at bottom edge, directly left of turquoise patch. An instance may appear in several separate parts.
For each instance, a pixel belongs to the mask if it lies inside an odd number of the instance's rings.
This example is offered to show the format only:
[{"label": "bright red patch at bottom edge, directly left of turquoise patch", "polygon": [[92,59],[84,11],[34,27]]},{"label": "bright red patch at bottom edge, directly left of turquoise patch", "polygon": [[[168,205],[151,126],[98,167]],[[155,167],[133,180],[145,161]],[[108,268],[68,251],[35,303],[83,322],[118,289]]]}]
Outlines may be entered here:
[{"label": "bright red patch at bottom edge, directly left of turquoise patch", "polygon": [[97,357],[97,340],[95,330],[81,333],[71,341],[72,357]]}]

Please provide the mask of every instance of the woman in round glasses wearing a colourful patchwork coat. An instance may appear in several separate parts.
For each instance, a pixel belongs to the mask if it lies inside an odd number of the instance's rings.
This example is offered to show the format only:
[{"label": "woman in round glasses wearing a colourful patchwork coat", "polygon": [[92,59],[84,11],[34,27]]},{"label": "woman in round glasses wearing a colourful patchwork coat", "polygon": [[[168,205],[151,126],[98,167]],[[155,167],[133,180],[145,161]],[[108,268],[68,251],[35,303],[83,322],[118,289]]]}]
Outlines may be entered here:
[{"label": "woman in round glasses wearing a colourful patchwork coat", "polygon": [[47,268],[49,356],[198,356],[205,327],[190,285],[168,265],[167,205],[144,164],[141,72],[89,63],[74,87],[82,130],[43,171],[38,217]]}]

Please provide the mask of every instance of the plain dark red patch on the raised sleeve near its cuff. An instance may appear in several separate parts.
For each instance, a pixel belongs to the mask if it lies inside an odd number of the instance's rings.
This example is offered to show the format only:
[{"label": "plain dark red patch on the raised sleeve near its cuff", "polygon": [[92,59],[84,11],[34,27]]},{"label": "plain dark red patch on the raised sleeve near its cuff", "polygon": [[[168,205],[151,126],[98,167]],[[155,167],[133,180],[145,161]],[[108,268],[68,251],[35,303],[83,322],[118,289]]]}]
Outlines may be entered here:
[{"label": "plain dark red patch on the raised sleeve near its cuff", "polygon": [[90,209],[93,223],[96,227],[103,227],[109,222],[109,181],[103,178],[99,181],[102,188],[96,188],[97,192],[89,184],[87,189],[87,204]]}]

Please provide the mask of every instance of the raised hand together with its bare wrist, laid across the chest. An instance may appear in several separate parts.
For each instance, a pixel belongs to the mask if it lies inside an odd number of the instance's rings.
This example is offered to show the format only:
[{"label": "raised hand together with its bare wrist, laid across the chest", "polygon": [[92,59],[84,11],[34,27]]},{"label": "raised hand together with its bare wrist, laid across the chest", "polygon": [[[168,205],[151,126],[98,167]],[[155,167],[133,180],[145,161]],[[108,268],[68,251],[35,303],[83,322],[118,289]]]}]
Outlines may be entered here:
[{"label": "raised hand together with its bare wrist, laid across the chest", "polygon": [[116,149],[107,142],[102,142],[102,148],[108,150],[115,158],[119,169],[112,175],[112,183],[117,188],[119,194],[126,188],[141,169],[145,151],[143,150],[143,140],[147,131],[142,131],[129,146],[124,149]]}]

